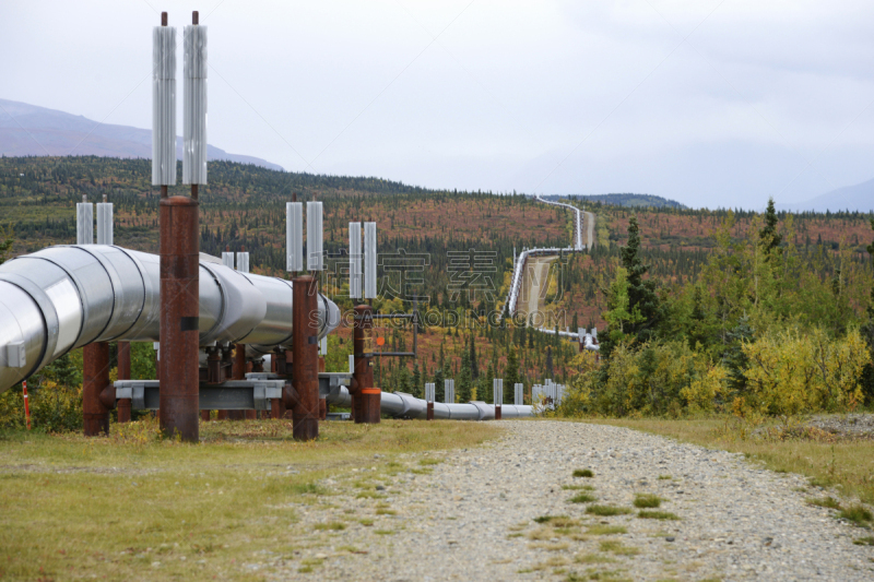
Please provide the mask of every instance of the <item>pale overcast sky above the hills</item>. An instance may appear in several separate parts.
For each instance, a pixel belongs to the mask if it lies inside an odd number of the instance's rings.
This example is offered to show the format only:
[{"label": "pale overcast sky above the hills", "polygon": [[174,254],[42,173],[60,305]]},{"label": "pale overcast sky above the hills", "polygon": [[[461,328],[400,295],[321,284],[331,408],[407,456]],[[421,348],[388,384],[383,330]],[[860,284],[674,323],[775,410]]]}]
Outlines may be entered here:
[{"label": "pale overcast sky above the hills", "polygon": [[291,170],[710,207],[874,178],[871,1],[4,0],[0,97],[150,128],[161,10],[210,28],[210,143]]}]

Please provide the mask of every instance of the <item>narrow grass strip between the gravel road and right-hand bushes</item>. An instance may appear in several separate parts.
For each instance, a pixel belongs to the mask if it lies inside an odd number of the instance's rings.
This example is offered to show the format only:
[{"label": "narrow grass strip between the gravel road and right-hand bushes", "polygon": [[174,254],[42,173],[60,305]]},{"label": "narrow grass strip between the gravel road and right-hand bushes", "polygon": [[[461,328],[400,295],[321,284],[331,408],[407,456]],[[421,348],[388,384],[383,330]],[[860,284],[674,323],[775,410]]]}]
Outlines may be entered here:
[{"label": "narrow grass strip between the gravel road and right-hand bushes", "polygon": [[[623,426],[673,437],[708,448],[744,453],[767,468],[811,477],[813,486],[837,487],[848,498],[874,504],[874,440],[765,439],[746,436],[748,427],[731,416],[709,418],[611,418],[590,423]],[[745,438],[744,438],[745,437]]]}]

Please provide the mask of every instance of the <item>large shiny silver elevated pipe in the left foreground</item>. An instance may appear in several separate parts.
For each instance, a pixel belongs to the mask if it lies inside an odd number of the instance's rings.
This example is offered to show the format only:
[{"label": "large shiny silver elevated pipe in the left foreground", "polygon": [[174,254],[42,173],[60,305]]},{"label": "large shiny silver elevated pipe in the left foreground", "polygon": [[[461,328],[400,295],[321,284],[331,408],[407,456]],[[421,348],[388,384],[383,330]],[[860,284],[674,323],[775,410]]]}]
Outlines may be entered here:
[{"label": "large shiny silver elevated pipe in the left foreground", "polygon": [[[0,265],[0,393],[92,342],[160,340],[161,262],[103,245],[49,247]],[[249,344],[251,357],[292,342],[292,285],[200,261],[200,345]],[[319,338],[340,309],[318,297]]]}]

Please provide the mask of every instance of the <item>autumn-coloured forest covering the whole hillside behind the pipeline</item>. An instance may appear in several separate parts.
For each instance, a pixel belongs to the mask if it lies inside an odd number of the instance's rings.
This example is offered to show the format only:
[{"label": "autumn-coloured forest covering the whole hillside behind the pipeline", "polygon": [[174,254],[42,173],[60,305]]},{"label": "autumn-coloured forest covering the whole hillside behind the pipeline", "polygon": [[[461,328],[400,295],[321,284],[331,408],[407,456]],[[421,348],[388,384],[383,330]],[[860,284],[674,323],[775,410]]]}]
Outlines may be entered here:
[{"label": "autumn-coloured forest covering the whole hillside behind the pipeline", "polygon": [[[170,190],[185,193],[181,185]],[[4,157],[0,228],[9,236],[8,256],[71,242],[74,205],[83,195],[114,203],[116,244],[157,250],[158,194],[147,159]],[[424,382],[435,381],[441,397],[442,379],[454,378],[459,399],[489,400],[494,377],[503,377],[505,387],[518,378],[527,390],[551,378],[574,385],[567,414],[684,414],[753,405],[744,391],[761,381],[745,376],[759,373],[749,367],[747,344],[764,349],[801,342],[791,344],[799,353],[814,349],[808,344],[816,341],[849,349],[857,358],[851,366],[861,361],[860,369],[870,370],[859,348],[871,345],[870,215],[567,200],[594,213],[595,244],[556,263],[546,307],[557,317],[548,326],[598,328],[603,358],[594,364],[578,355],[577,344],[489,318],[503,312],[515,252],[567,245],[567,211],[516,192],[428,190],[215,162],[200,195],[201,250],[217,256],[245,248],[255,272],[286,276],[284,202],[293,195],[324,203],[328,271],[321,287],[341,308],[352,307],[341,271],[352,221],[378,223],[385,259],[375,307],[409,312],[417,299],[418,358],[378,359],[376,379],[386,390],[420,394]],[[765,239],[772,240],[767,252]],[[485,264],[479,281],[486,285],[471,283],[477,261]],[[386,349],[412,347],[409,325],[378,333]],[[147,377],[151,346],[137,349],[138,369]],[[351,330],[341,328],[330,337],[328,369],[344,369],[350,352]],[[37,393],[51,382],[74,391],[75,358],[71,354],[35,378]],[[862,396],[835,396],[828,406],[870,403],[865,385],[860,383]]]}]

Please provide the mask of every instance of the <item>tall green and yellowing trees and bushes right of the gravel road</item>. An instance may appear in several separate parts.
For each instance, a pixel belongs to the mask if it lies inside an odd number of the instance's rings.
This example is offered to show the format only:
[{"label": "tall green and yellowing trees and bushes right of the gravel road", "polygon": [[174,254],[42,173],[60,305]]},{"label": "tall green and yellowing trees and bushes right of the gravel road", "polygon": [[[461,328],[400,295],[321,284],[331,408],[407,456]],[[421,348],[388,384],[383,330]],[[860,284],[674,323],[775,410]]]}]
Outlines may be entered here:
[{"label": "tall green and yellowing trees and bushes right of the gravel road", "polygon": [[[864,230],[841,228],[862,219]],[[761,215],[727,212],[686,274],[651,268],[645,222],[658,213],[628,218],[602,288],[600,361],[577,357],[560,414],[723,412],[790,426],[874,404],[874,218],[781,216],[772,200]]]}]

